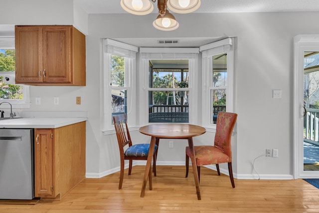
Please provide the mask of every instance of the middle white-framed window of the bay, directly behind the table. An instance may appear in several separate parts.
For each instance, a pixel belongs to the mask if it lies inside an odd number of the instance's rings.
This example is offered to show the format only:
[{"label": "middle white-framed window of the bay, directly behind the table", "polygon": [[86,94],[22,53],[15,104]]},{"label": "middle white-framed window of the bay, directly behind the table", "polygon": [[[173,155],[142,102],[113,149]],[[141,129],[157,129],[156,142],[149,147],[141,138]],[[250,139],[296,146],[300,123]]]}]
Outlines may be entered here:
[{"label": "middle white-framed window of the bay, directly behind the table", "polygon": [[140,49],[142,124],[197,121],[198,53],[198,48]]}]

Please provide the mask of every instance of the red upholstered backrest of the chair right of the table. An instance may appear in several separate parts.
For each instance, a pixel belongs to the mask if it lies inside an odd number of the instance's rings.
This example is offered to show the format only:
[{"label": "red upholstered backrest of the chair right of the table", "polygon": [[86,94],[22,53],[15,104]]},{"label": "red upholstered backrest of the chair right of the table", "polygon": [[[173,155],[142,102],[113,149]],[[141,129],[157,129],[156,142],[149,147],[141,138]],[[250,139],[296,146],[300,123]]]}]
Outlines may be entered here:
[{"label": "red upholstered backrest of the chair right of the table", "polygon": [[218,112],[214,146],[222,150],[231,162],[231,135],[236,124],[237,114],[231,112]]}]

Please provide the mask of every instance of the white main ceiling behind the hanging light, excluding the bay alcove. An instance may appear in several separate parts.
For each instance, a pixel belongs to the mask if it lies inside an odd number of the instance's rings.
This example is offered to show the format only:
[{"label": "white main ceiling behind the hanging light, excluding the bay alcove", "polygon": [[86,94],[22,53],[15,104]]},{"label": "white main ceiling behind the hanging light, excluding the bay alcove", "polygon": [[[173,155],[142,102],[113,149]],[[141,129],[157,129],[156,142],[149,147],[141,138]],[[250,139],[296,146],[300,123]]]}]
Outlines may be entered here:
[{"label": "white main ceiling behind the hanging light, excluding the bay alcove", "polygon": [[[120,0],[75,0],[87,13],[127,13]],[[319,0],[201,0],[195,12],[319,11]],[[154,3],[157,13],[157,3]]]}]

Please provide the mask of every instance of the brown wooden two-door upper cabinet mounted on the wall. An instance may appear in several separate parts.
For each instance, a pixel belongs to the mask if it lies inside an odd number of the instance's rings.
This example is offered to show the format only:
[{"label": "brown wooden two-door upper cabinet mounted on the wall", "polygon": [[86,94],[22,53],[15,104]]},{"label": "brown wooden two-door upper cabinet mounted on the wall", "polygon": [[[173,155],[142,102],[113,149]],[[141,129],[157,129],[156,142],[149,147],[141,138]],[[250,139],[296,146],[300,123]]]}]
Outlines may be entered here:
[{"label": "brown wooden two-door upper cabinet mounted on the wall", "polygon": [[85,86],[85,72],[85,35],[74,26],[15,26],[15,83]]}]

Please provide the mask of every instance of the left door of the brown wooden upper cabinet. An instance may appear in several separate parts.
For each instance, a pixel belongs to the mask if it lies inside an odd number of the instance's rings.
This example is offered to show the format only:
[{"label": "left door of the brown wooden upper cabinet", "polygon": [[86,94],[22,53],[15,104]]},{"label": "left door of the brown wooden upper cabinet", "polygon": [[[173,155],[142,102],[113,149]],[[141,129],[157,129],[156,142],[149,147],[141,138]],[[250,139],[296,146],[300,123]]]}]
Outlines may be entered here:
[{"label": "left door of the brown wooden upper cabinet", "polygon": [[15,82],[42,82],[41,26],[15,26]]}]

